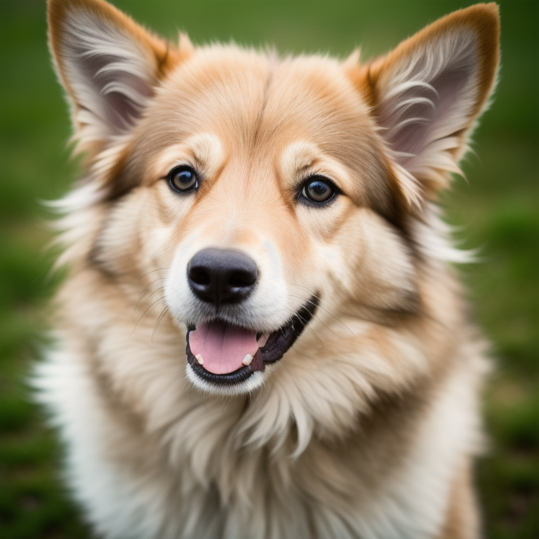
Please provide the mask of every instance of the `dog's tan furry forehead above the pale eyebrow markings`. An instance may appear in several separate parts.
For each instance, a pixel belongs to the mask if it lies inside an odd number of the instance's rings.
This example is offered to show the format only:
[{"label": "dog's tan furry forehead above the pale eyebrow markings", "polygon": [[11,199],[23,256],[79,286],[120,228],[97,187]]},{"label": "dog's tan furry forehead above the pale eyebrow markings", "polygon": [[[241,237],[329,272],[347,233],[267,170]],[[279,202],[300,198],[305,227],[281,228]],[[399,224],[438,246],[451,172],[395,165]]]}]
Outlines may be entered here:
[{"label": "dog's tan furry forehead above the pale eyebrow markings", "polygon": [[215,133],[227,153],[257,145],[282,152],[305,140],[335,157],[350,157],[347,142],[357,147],[375,132],[368,107],[337,61],[279,60],[220,46],[178,66],[160,88],[149,119],[171,142]]}]

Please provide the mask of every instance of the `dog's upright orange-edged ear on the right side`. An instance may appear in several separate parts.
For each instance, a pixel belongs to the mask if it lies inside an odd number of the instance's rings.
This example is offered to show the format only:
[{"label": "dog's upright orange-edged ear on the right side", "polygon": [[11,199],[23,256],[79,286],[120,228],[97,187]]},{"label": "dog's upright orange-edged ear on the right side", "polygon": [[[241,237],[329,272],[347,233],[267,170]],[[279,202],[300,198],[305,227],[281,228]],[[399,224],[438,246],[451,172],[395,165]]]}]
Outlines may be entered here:
[{"label": "dog's upright orange-edged ear on the right side", "polygon": [[[350,76],[371,105],[403,185],[419,182],[427,198],[460,172],[474,120],[498,70],[496,4],[456,11]],[[406,191],[406,188],[405,188]]]}]

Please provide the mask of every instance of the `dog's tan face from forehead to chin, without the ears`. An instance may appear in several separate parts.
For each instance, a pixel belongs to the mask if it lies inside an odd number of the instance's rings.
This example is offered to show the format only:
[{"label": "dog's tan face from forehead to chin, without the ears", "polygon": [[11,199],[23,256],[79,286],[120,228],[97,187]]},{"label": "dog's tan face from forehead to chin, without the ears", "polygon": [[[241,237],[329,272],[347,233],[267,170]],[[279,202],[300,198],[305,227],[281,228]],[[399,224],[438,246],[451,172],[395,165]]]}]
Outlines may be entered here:
[{"label": "dog's tan face from forehead to chin, without the ears", "polygon": [[[122,274],[133,261],[140,275],[168,268],[166,304],[197,328],[187,367],[195,384],[262,383],[265,366],[345,283],[355,302],[376,286],[373,307],[408,307],[413,265],[383,215],[394,212],[391,172],[337,62],[194,53],[149,103],[130,144],[122,174],[132,187],[95,257]],[[126,225],[137,241],[126,241]],[[392,252],[389,275],[377,270],[380,251]],[[357,283],[339,274],[345,267]]]}]

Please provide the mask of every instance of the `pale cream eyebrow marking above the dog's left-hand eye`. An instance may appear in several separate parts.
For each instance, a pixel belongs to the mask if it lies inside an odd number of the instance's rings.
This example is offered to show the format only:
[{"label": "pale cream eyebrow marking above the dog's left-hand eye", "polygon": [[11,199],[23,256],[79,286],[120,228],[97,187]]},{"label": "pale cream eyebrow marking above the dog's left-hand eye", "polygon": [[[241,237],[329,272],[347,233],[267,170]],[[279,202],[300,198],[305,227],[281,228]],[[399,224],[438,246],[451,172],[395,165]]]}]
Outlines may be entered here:
[{"label": "pale cream eyebrow marking above the dog's left-hand eye", "polygon": [[194,161],[194,166],[208,176],[214,176],[225,160],[221,141],[213,133],[199,133],[185,142],[169,146],[157,158],[160,174],[166,174],[179,161]]}]

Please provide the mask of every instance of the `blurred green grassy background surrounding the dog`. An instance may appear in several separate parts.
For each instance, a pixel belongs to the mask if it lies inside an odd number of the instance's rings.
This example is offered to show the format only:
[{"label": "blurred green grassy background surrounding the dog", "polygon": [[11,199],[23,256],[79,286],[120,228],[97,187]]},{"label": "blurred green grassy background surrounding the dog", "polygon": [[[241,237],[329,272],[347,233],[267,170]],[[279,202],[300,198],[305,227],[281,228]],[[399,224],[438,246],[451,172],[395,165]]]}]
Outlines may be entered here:
[{"label": "blurred green grassy background surrounding the dog", "polygon": [[[275,45],[364,58],[396,46],[470,0],[117,0],[164,36],[195,44]],[[502,69],[474,154],[443,204],[458,244],[481,260],[460,268],[493,343],[485,392],[491,444],[477,464],[486,536],[539,538],[539,2],[501,0]],[[0,537],[89,538],[59,477],[61,448],[32,404],[27,377],[46,345],[51,218],[39,201],[76,177],[69,118],[46,46],[44,0],[0,2]]]}]

